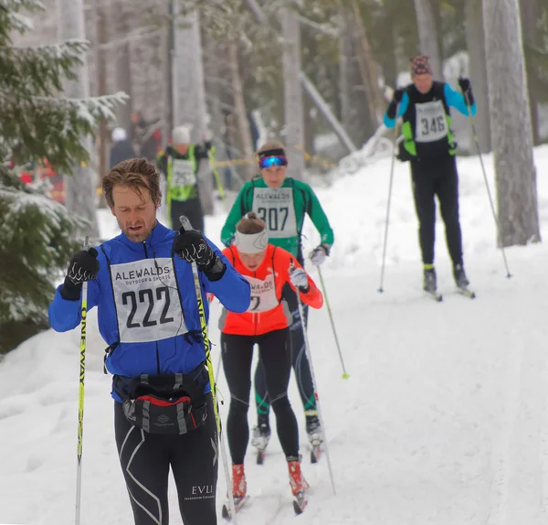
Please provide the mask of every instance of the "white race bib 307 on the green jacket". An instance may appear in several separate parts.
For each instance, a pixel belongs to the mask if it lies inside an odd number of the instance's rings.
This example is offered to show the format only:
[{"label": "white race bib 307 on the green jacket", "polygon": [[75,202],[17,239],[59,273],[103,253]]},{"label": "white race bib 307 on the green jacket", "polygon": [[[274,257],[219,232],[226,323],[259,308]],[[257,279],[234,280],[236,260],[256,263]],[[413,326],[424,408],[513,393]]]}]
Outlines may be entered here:
[{"label": "white race bib 307 on the green jacket", "polygon": [[297,235],[293,190],[290,187],[256,187],[253,211],[264,220],[270,238],[287,239]]}]

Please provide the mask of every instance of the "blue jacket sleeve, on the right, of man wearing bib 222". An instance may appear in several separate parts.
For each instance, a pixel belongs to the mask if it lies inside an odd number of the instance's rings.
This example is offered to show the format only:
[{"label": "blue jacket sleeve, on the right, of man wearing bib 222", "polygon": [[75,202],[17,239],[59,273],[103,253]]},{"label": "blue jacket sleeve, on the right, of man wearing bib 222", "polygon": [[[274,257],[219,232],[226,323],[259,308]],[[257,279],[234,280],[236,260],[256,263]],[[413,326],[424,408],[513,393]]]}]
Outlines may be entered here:
[{"label": "blue jacket sleeve, on the right, of man wearing bib 222", "polygon": [[225,274],[218,280],[211,282],[203,276],[205,292],[213,294],[228,311],[241,314],[248,310],[251,303],[251,286],[248,281],[234,269],[213,242],[207,240],[223,263],[227,265]]}]

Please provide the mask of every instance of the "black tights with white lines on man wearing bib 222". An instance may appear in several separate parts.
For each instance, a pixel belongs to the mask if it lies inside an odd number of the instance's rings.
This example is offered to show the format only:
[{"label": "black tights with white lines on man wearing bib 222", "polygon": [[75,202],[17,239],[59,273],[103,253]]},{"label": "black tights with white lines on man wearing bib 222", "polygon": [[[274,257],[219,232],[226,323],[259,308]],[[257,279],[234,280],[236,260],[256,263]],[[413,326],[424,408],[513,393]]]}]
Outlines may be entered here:
[{"label": "black tights with white lines on man wearing bib 222", "polygon": [[135,525],[167,525],[169,469],[184,525],[216,525],[218,448],[211,394],[205,424],[183,435],[148,434],[114,402],[114,433]]}]

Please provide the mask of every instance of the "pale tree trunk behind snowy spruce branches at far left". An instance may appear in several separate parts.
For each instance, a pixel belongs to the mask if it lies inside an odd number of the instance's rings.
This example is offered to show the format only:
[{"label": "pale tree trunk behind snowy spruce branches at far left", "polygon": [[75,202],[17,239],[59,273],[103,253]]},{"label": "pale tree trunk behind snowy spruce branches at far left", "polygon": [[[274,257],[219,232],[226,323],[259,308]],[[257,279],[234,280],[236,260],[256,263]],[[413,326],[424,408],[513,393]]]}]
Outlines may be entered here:
[{"label": "pale tree trunk behind snowy spruce branches at far left", "polygon": [[[58,39],[85,39],[84,4],[83,0],[57,0],[58,8]],[[82,57],[82,65],[74,69],[77,80],[65,82],[65,95],[71,99],[84,99],[90,96],[88,59]],[[91,154],[91,139],[82,139]],[[99,228],[95,210],[97,174],[90,163],[74,166],[72,176],[65,176],[65,203],[67,209],[90,222],[84,233],[90,237],[99,238]]]}]

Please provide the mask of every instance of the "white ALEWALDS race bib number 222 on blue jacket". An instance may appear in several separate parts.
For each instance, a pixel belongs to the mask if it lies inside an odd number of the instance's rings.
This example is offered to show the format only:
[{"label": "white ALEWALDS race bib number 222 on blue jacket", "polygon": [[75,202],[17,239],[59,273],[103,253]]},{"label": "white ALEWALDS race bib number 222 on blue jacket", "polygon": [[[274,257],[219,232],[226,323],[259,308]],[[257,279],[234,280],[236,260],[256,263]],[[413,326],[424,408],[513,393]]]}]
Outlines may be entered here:
[{"label": "white ALEWALDS race bib number 222 on blue jacket", "polygon": [[111,265],[121,343],[145,343],[186,333],[172,259]]}]

